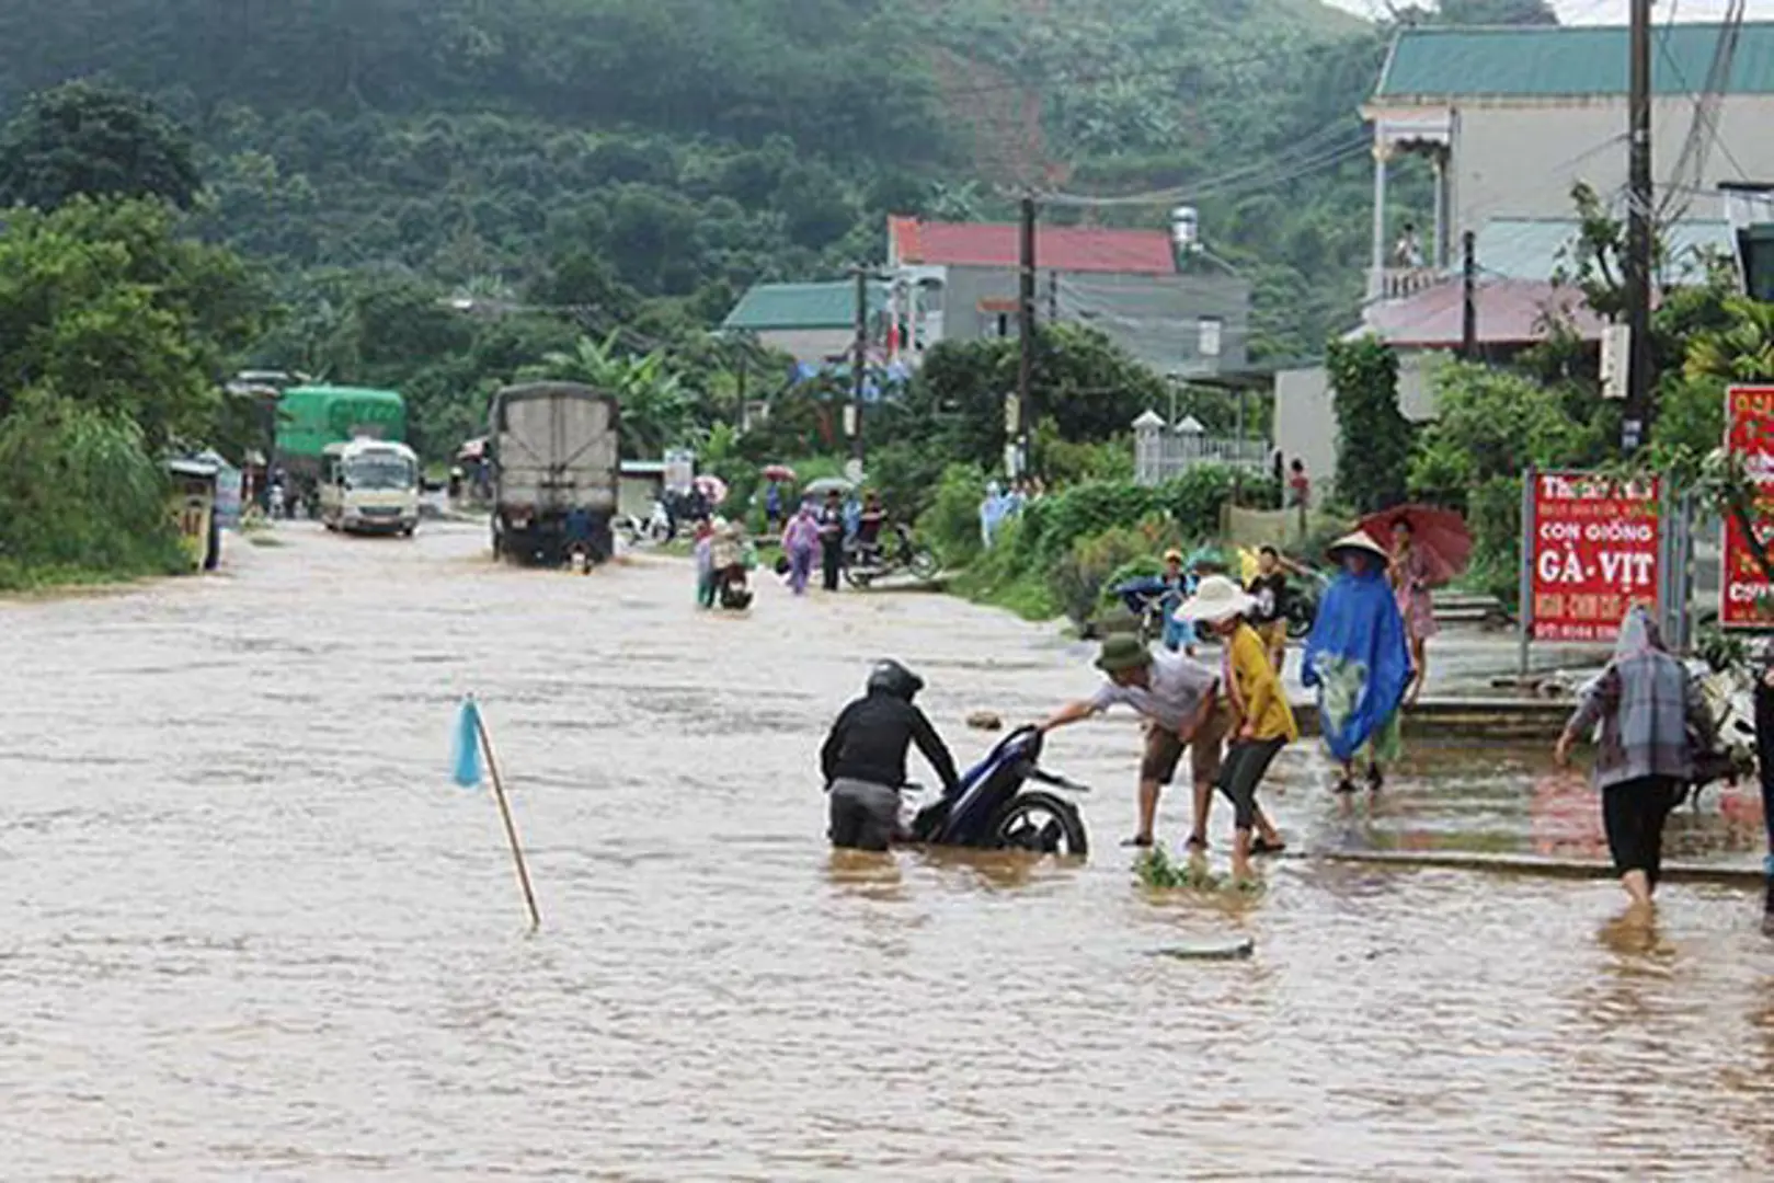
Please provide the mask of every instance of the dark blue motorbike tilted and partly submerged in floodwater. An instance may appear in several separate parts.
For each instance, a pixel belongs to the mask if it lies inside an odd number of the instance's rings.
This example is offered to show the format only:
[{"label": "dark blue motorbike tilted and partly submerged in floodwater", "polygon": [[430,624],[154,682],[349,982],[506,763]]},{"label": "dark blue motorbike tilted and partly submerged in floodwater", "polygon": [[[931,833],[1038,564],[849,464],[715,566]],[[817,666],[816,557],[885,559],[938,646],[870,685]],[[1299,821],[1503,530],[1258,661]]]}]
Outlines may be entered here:
[{"label": "dark blue motorbike tilted and partly submerged in floodwater", "polygon": [[[907,793],[915,791],[919,786],[907,786]],[[956,793],[917,809],[905,841],[1084,858],[1084,818],[1063,793],[1089,789],[1041,768],[1041,733],[1018,727],[962,775]]]}]

